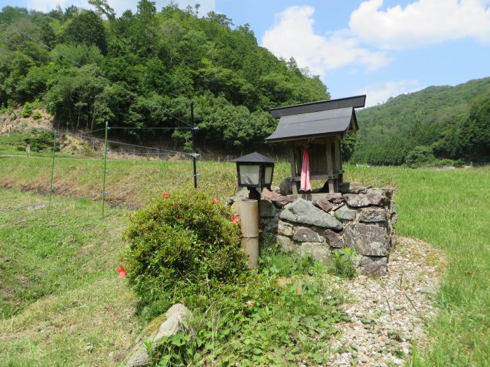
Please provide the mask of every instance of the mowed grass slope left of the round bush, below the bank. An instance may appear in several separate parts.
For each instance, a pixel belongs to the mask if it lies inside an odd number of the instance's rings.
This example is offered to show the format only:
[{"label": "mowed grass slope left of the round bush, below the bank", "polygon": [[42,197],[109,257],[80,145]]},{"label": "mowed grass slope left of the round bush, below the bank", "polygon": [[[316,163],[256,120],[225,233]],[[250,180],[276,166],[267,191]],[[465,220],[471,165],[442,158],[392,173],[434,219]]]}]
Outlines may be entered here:
[{"label": "mowed grass slope left of the round bush, below the bank", "polygon": [[0,212],[1,366],[113,366],[130,347],[141,326],[116,272],[127,212],[106,214],[86,200]]}]

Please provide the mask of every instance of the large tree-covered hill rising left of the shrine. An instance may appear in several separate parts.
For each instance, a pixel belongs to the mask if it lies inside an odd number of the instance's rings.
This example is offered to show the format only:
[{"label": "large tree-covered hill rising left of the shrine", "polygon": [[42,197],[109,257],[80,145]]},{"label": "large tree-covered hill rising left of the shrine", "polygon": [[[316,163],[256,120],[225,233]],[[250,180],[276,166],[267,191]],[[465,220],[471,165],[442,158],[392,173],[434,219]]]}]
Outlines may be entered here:
[{"label": "large tree-covered hill rising left of the shrine", "polygon": [[[141,0],[116,17],[106,0],[92,10],[49,13],[7,6],[0,13],[0,107],[45,106],[60,127],[186,127],[190,101],[202,146],[239,151],[262,144],[267,110],[328,99],[318,77],[258,46],[248,24],[199,6],[161,11]],[[42,44],[42,45],[41,45]],[[175,117],[172,117],[171,115]],[[151,130],[122,130],[144,141]],[[158,131],[162,134],[162,131]],[[190,131],[167,132],[190,146]],[[212,144],[211,144],[212,143]]]}]

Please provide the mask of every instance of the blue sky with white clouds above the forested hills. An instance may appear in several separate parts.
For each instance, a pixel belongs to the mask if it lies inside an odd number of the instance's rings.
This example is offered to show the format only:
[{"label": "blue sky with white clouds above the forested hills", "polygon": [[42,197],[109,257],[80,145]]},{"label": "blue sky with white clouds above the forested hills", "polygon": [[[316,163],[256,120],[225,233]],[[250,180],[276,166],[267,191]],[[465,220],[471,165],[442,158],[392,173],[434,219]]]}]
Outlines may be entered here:
[{"label": "blue sky with white clouds above the forested hills", "polygon": [[[160,9],[170,1],[158,0]],[[193,0],[178,0],[179,6]],[[248,23],[258,43],[318,74],[332,98],[367,94],[367,104],[430,85],[490,76],[490,0],[202,0]],[[85,0],[0,0],[48,10]],[[136,1],[109,0],[118,13]]]}]

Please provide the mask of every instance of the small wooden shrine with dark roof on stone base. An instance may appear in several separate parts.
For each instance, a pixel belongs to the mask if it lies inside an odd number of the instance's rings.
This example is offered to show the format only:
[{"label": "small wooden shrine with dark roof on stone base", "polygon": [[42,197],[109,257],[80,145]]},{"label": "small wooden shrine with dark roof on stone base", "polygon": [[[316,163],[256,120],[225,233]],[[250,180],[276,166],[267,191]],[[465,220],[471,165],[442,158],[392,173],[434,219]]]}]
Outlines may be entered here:
[{"label": "small wooden shrine with dark roof on stone base", "polygon": [[300,191],[305,148],[309,150],[310,180],[324,180],[328,192],[339,191],[344,173],[340,141],[347,131],[358,130],[355,108],[364,107],[365,99],[365,95],[353,96],[270,110],[272,116],[280,120],[276,131],[265,140],[289,145],[294,195]]}]

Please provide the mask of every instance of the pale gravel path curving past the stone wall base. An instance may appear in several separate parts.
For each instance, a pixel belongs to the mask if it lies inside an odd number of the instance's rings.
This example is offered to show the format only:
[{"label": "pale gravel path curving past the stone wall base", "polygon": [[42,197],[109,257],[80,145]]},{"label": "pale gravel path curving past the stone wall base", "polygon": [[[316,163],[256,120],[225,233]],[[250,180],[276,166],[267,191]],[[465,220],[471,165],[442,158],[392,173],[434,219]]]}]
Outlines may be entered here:
[{"label": "pale gravel path curving past the stone wall base", "polygon": [[442,252],[421,240],[397,238],[388,275],[339,280],[351,321],[333,340],[328,366],[400,366],[412,343],[426,343],[424,322],[436,314],[433,298],[445,262]]}]

